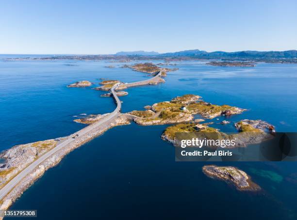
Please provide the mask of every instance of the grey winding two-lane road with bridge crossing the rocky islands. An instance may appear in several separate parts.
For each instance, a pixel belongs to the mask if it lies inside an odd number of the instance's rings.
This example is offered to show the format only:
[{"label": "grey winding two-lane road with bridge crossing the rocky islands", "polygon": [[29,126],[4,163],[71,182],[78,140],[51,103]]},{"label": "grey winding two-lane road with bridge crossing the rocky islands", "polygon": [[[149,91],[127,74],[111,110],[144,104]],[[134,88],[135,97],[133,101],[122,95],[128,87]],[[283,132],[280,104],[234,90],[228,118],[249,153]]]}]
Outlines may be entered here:
[{"label": "grey winding two-lane road with bridge crossing the rocky islands", "polygon": [[[150,82],[158,82],[158,80],[160,79],[161,73],[162,73],[162,70],[155,77],[153,77],[151,79],[127,83],[127,84],[124,84],[124,86],[132,87],[132,86],[146,85],[146,84],[149,84]],[[99,126],[102,126],[105,123],[111,123],[116,117],[118,117],[120,115],[120,110],[121,110],[121,101],[118,98],[118,96],[116,95],[115,90],[119,86],[120,86],[120,83],[116,83],[111,88],[111,93],[113,94],[115,102],[116,102],[116,108],[112,113],[110,113],[109,115],[104,117],[102,120],[95,122],[87,127],[84,127],[72,135],[69,135],[67,137],[66,141],[63,141],[63,142],[57,144],[56,147],[49,150],[47,153],[45,153],[41,157],[37,158],[33,163],[31,163],[28,167],[26,167],[24,170],[22,170],[20,173],[18,173],[13,179],[11,179],[2,189],[0,189],[0,200],[2,200],[5,197],[5,195],[7,195],[20,182],[20,180],[22,180],[25,176],[27,176],[28,174],[33,172],[33,170],[39,164],[41,164],[43,161],[45,161],[48,157],[55,154],[57,151],[61,150],[67,144],[74,142],[75,139],[72,138],[74,135],[82,136],[84,134],[87,134],[88,132],[92,131],[94,128],[98,128]]]}]

